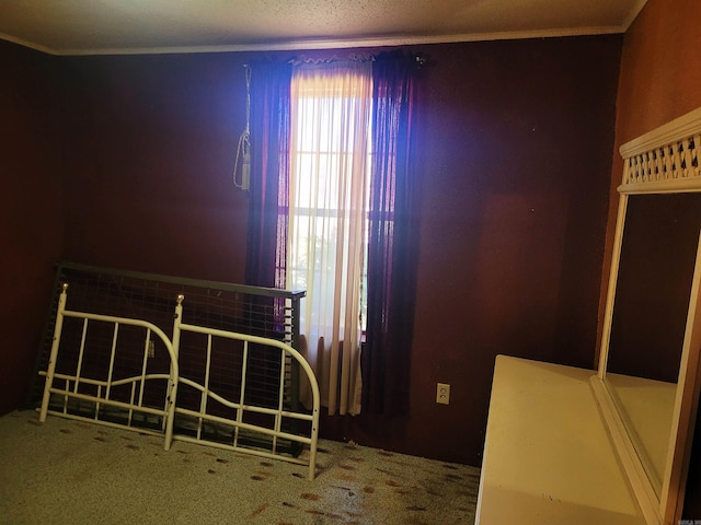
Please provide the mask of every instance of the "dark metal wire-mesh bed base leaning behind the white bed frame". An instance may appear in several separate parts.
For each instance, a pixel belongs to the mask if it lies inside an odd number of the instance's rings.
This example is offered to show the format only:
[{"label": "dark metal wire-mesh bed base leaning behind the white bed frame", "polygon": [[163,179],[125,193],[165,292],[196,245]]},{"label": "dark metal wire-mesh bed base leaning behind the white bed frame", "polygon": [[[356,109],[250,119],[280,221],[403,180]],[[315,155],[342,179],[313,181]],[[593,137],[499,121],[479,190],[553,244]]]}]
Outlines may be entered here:
[{"label": "dark metal wire-mesh bed base leaning behind the white bed frame", "polygon": [[[306,295],[304,291],[206,281],[64,261],[57,267],[55,293],[48,305],[44,335],[37,349],[34,382],[28,392],[27,407],[37,408],[42,402],[45,383],[42,375],[45,375],[48,368],[60,284],[64,282],[70,282],[69,306],[71,310],[146,320],[161,328],[171,340],[173,308],[177,295],[184,294],[187,298],[184,315],[193,325],[268,337],[281,340],[297,350],[300,349],[299,312],[300,301]],[[76,335],[74,323],[76,319],[68,323],[65,339],[79,337],[79,334]],[[106,339],[108,336],[101,334],[101,337]],[[193,335],[186,334],[186,340],[181,343],[180,376],[196,377],[202,383],[206,365],[205,352],[198,346],[191,343],[192,337]],[[129,345],[134,347],[133,341]],[[160,342],[157,340],[156,345],[160,346]],[[108,345],[102,345],[102,348],[107,351]],[[154,350],[156,359],[151,360],[151,364],[158,363],[160,366],[164,361],[161,358],[165,358],[166,352],[159,348]],[[128,359],[139,361],[140,352],[141,349],[129,348]],[[261,399],[267,398],[271,388],[274,388],[273,384],[277,383],[278,363],[266,363],[265,357],[265,352],[256,352],[253,361],[258,373],[255,375],[255,382],[249,382],[252,390],[256,390],[249,394]],[[104,375],[102,371],[107,365],[107,357],[94,357],[83,364],[82,375],[102,376]],[[239,369],[239,362],[235,359],[229,359],[227,351],[222,352],[220,347],[212,354],[209,382],[218,388],[218,392],[230,397],[231,388],[226,382],[230,382],[232,373]],[[168,369],[162,371],[168,373]],[[289,368],[286,381],[289,393],[287,402],[297,410],[300,407],[298,366]],[[186,390],[191,389],[186,388]],[[147,397],[150,394],[147,393]],[[158,395],[161,393],[159,392]],[[181,405],[192,408],[188,396],[197,397],[193,392],[186,392]],[[153,399],[149,399],[150,401]],[[307,408],[309,409],[310,406],[308,405]],[[292,445],[290,443],[290,446]],[[297,454],[299,447],[289,452]]]}]

